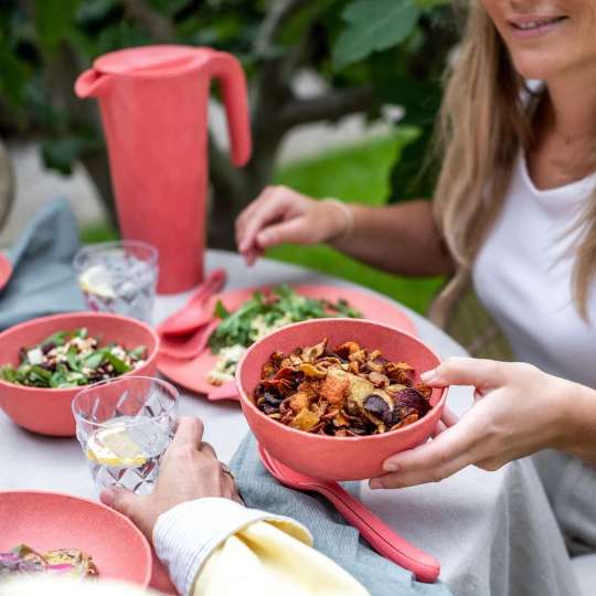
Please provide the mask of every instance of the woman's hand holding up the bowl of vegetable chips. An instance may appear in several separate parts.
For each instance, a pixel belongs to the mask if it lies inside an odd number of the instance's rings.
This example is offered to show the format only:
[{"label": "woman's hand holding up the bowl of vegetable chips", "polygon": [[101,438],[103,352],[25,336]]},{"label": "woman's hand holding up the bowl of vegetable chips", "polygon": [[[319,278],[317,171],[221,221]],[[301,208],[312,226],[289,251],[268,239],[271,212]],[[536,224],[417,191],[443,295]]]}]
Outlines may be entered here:
[{"label": "woman's hand holding up the bowl of vegetable chips", "polygon": [[422,379],[433,387],[473,385],[475,404],[433,440],[387,458],[390,473],[372,479],[373,489],[437,482],[470,464],[497,470],[558,447],[568,433],[565,412],[577,385],[531,364],[450,358]]}]

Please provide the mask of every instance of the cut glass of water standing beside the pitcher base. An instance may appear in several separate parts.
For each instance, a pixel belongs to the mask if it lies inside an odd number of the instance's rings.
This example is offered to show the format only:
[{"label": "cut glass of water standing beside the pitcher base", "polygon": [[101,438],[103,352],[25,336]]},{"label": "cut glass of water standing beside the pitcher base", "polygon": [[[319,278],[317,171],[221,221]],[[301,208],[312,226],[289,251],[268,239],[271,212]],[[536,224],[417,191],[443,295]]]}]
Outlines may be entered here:
[{"label": "cut glass of water standing beside the pitcher base", "polygon": [[92,244],[78,251],[73,264],[89,310],[151,322],[157,248],[137,241]]}]

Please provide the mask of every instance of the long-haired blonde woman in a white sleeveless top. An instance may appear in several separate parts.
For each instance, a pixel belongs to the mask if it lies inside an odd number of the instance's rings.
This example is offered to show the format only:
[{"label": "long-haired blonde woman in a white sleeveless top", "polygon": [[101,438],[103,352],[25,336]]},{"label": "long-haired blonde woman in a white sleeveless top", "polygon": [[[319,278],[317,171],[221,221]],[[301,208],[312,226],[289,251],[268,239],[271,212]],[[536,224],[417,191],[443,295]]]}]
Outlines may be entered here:
[{"label": "long-haired blonde woman in a white sleeveless top", "polygon": [[523,363],[453,359],[429,371],[435,386],[475,385],[475,406],[387,459],[371,487],[541,451],[572,550],[594,550],[596,1],[471,0],[439,130],[432,202],[348,206],[270,187],[240,215],[238,249],[251,264],[283,242],[329,243],[396,274],[448,275],[439,307],[471,276]]}]

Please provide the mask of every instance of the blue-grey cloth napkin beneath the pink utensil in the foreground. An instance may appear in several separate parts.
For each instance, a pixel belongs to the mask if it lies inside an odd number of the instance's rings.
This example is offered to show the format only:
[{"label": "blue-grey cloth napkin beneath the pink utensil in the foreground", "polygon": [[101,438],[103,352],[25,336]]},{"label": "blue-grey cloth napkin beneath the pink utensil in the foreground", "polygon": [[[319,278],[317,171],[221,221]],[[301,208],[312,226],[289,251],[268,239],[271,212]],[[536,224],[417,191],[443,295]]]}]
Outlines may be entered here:
[{"label": "blue-grey cloth napkin beneath the pink utensil in the foreground", "polygon": [[[279,485],[260,464],[252,434],[243,440],[230,467],[248,507],[306,525],[317,550],[350,572],[372,596],[450,596],[444,584],[416,582],[408,571],[376,554],[323,498]],[[358,496],[358,482],[343,487]]]}]

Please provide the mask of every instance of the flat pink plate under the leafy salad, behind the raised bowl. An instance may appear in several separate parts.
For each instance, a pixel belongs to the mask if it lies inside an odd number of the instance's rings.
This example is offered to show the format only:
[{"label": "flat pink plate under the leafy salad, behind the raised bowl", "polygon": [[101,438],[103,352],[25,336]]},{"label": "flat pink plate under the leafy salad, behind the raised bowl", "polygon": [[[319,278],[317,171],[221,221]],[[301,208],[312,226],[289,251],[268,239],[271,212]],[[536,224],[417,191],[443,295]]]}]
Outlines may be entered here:
[{"label": "flat pink plate under the leafy salad, behind the raised bowl", "polygon": [[[254,291],[263,289],[266,288],[253,287],[231,290],[221,294],[219,298],[227,310],[236,310],[245,300],[252,297]],[[414,323],[400,307],[390,299],[370,291],[318,285],[295,286],[294,289],[308,298],[323,298],[334,302],[343,298],[348,300],[351,307],[362,312],[365,319],[391,324],[408,333],[416,334]],[[207,349],[192,360],[178,360],[160,355],[158,358],[158,369],[161,374],[184,389],[209,395],[215,387],[207,383],[206,377],[215,362],[216,356]],[[237,395],[231,398],[237,398]]]}]

